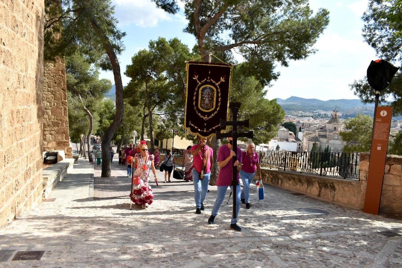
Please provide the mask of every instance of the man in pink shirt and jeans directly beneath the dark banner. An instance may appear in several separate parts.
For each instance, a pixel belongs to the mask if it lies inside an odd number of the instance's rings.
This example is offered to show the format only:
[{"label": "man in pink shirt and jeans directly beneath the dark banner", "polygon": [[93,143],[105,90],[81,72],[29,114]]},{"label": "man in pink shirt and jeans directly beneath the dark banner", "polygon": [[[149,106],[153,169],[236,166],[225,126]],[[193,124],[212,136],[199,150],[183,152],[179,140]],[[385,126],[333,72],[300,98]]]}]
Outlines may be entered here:
[{"label": "man in pink shirt and jeans directly beneath the dark banner", "polygon": [[204,200],[207,196],[211,169],[213,167],[213,150],[207,145],[207,139],[198,138],[198,144],[191,147],[193,154],[193,184],[195,213],[204,210]]}]

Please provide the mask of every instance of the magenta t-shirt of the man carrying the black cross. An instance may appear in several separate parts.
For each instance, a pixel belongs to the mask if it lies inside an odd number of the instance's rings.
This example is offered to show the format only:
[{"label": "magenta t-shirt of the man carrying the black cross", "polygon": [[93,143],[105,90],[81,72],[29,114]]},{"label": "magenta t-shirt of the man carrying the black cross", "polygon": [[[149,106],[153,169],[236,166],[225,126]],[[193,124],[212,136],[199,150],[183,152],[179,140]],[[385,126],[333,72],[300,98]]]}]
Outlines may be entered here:
[{"label": "magenta t-shirt of the man carrying the black cross", "polygon": [[[222,145],[218,150],[218,162],[224,161],[230,155],[230,149],[228,145]],[[236,153],[237,160],[242,162],[242,150],[237,147]],[[228,164],[219,170],[218,178],[216,180],[216,186],[230,186],[232,185],[232,170],[233,170],[233,159],[229,160]],[[237,182],[240,182],[239,172],[237,172]]]}]

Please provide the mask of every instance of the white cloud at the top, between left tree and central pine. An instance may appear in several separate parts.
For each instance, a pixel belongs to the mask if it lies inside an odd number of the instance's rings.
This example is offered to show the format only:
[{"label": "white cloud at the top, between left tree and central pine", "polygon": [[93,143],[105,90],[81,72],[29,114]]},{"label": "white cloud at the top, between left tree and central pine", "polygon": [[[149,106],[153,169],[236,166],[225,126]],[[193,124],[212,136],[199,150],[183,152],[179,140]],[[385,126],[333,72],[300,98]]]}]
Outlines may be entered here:
[{"label": "white cloud at the top, between left tree and central pine", "polygon": [[113,4],[120,25],[133,23],[139,27],[156,27],[161,21],[172,20],[150,0],[113,0]]}]

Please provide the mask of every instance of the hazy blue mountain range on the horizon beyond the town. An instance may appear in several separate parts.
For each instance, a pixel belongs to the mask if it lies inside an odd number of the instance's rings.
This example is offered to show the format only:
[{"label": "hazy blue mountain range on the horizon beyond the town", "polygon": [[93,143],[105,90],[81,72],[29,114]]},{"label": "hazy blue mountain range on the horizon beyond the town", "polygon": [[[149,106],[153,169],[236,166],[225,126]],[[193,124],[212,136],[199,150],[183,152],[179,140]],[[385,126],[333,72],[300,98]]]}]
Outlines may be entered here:
[{"label": "hazy blue mountain range on the horizon beyond the town", "polygon": [[[361,100],[318,100],[318,99],[306,99],[291,96],[287,99],[277,98],[277,102],[281,105],[282,109],[285,111],[303,111],[303,112],[313,112],[315,110],[332,111],[335,107],[338,111],[344,114],[353,114],[354,111],[349,111],[353,108],[365,108],[361,109],[365,113],[369,113],[370,108],[374,107],[374,104],[364,104]],[[359,110],[359,109],[357,109]],[[357,111],[355,109],[355,111]]]}]

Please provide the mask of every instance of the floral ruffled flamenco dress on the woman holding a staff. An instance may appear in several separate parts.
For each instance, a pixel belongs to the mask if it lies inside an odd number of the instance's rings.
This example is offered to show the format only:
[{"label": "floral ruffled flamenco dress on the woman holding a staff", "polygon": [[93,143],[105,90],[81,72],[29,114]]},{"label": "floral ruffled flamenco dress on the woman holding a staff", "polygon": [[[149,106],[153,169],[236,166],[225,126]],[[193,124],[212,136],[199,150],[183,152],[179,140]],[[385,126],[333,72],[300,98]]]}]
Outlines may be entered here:
[{"label": "floral ruffled flamenco dress on the woman holding a staff", "polygon": [[151,172],[152,160],[154,160],[154,155],[148,155],[146,161],[143,160],[141,156],[138,158],[137,169],[133,176],[139,176],[140,184],[133,185],[131,189],[130,198],[136,205],[151,205],[154,201],[154,194],[152,193],[152,188],[148,183]]}]

